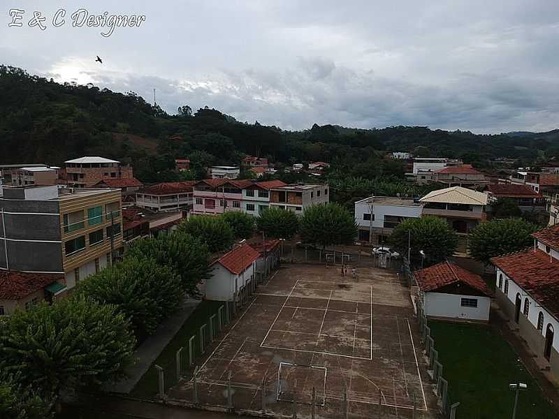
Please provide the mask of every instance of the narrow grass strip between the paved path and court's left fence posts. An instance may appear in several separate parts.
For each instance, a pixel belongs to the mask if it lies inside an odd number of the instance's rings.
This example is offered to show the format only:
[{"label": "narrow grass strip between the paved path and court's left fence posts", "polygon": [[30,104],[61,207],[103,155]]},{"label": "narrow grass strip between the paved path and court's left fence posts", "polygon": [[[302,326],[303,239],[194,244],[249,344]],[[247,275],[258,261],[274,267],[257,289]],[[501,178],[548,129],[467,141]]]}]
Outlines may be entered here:
[{"label": "narrow grass strip between the paved path and court's left fence posts", "polygon": [[[210,316],[212,314],[216,314],[219,307],[224,305],[224,302],[219,301],[207,301],[204,300],[198,307],[192,311],[192,314],[184,321],[184,324],[181,326],[180,330],[177,332],[175,337],[171,339],[168,345],[164,348],[164,350],[159,354],[157,359],[150,365],[150,368],[147,369],[145,374],[140,378],[140,381],[136,384],[136,387],[130,393],[133,397],[140,397],[143,399],[150,399],[157,395],[157,369],[155,369],[155,365],[159,365],[163,367],[165,370],[165,384],[166,388],[174,385],[177,382],[176,374],[175,374],[175,354],[181,347],[185,347],[185,351],[188,351],[188,339],[191,336],[196,335],[196,339],[194,341],[196,344],[194,345],[194,351],[196,353],[196,357],[200,356],[200,344],[199,344],[199,332],[200,326],[203,324],[207,324]],[[224,309],[225,315],[225,309]],[[206,332],[209,332],[208,328]],[[187,369],[187,357],[188,352],[184,353],[183,351],[183,360],[186,360],[183,363],[183,370]]]}]

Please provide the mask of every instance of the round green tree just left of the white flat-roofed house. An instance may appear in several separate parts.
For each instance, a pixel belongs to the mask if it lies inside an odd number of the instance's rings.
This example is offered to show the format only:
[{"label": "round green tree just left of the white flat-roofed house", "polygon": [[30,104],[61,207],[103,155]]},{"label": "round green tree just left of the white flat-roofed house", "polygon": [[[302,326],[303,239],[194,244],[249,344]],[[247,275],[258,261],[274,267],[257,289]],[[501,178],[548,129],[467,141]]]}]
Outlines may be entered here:
[{"label": "round green tree just left of the white flat-roofed house", "polygon": [[301,240],[322,247],[332,244],[353,244],[357,224],[353,214],[337,203],[311,205],[300,219]]}]

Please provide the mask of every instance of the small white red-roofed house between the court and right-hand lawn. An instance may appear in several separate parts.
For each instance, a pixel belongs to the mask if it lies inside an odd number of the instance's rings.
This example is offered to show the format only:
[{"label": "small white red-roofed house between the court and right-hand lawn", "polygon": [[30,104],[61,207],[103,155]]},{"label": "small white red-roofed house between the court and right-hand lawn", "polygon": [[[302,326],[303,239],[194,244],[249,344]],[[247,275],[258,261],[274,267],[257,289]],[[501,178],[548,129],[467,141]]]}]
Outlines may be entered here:
[{"label": "small white red-roofed house between the court and right-hand lawn", "polygon": [[414,272],[418,304],[426,316],[460,321],[488,321],[492,292],[479,275],[453,262]]}]

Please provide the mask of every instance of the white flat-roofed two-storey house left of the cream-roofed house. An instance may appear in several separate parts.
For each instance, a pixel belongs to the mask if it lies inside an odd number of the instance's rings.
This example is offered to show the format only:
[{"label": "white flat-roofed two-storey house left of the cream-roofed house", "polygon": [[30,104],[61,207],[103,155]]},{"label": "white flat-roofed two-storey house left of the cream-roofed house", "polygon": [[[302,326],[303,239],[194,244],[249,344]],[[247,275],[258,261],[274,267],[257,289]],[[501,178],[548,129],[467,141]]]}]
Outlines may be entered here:
[{"label": "white flat-roofed two-storey house left of the cream-roofed house", "polygon": [[[395,226],[405,219],[419,218],[423,205],[413,198],[370,196],[355,203],[358,240],[383,244]],[[372,215],[371,215],[372,214]]]}]

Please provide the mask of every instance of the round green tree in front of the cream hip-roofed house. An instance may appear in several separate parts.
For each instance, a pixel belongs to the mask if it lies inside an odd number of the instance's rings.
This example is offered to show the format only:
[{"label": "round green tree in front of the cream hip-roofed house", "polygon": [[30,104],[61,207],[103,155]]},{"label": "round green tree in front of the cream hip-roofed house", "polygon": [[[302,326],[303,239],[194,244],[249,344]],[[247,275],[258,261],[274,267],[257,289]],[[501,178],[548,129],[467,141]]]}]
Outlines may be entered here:
[{"label": "round green tree in front of the cream hip-roofed house", "polygon": [[[421,263],[425,253],[427,265],[439,263],[452,256],[458,247],[458,235],[449,227],[447,220],[436,216],[409,218],[396,226],[389,237],[390,244],[402,255],[409,256],[412,263]],[[409,243],[409,244],[408,244]]]}]

